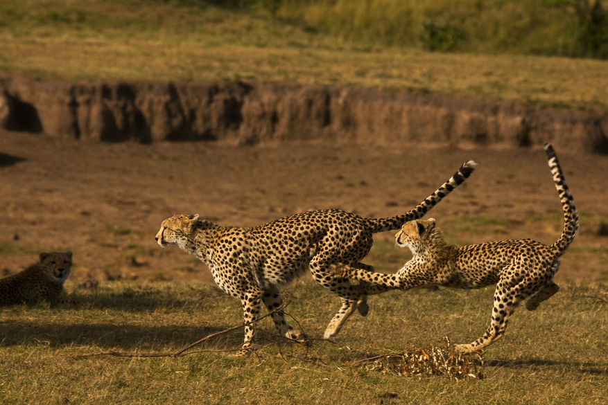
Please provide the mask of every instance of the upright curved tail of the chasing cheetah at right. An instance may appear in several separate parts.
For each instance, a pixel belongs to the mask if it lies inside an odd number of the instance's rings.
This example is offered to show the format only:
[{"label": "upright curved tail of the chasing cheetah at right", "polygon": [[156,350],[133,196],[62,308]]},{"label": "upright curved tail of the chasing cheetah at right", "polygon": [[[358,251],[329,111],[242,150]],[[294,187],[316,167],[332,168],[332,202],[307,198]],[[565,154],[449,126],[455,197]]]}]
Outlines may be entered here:
[{"label": "upright curved tail of the chasing cheetah at right", "polygon": [[559,194],[559,201],[562,201],[562,207],[564,208],[564,231],[562,231],[562,236],[559,237],[557,242],[551,245],[552,248],[557,249],[558,255],[562,255],[574,240],[574,236],[578,230],[578,213],[576,212],[574,199],[566,185],[564,172],[562,172],[562,168],[559,166],[553,146],[550,143],[546,143],[544,147],[545,152],[547,152],[549,168],[551,174],[553,174],[553,182],[555,182],[555,188],[557,188],[557,194]]}]

